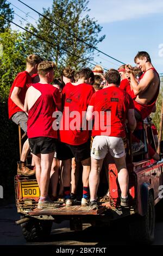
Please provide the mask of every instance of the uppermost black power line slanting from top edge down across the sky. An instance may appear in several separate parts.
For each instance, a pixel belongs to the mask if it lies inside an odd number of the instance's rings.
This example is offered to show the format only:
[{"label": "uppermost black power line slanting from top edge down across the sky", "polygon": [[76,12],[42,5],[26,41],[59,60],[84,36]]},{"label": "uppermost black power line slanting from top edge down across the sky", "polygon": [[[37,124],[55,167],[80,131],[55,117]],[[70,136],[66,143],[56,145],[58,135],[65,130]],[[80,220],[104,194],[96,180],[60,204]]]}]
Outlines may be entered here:
[{"label": "uppermost black power line slanting from top edge down across the sky", "polygon": [[39,11],[36,11],[36,10],[33,9],[32,7],[30,7],[28,4],[23,3],[23,2],[20,1],[20,0],[18,0],[18,2],[20,2],[20,3],[24,4],[24,5],[26,5],[29,9],[35,11],[35,13],[37,13],[37,14],[39,14],[40,16],[44,17],[44,18],[45,18],[46,20],[48,20],[49,22],[52,22],[55,26],[61,28],[61,29],[64,30],[66,33],[72,35],[72,36],[73,36],[74,38],[76,38],[78,41],[83,42],[83,43],[86,44],[87,46],[93,48],[94,50],[96,50],[96,51],[98,51],[98,52],[101,52],[101,53],[104,54],[105,56],[108,56],[109,58],[114,59],[114,60],[116,60],[117,62],[120,62],[121,64],[125,64],[125,63],[121,62],[120,60],[118,60],[118,59],[116,59],[116,58],[114,58],[114,57],[111,57],[110,55],[108,55],[108,54],[102,52],[101,50],[98,50],[95,46],[92,46],[92,45],[88,44],[88,43],[85,42],[84,40],[78,38],[76,35],[74,35],[74,34],[68,32],[66,29],[64,29],[63,27],[61,27],[60,25],[58,25],[57,23],[55,23],[54,21],[52,21],[51,19],[49,19],[48,17],[46,17],[45,15],[39,13]]}]

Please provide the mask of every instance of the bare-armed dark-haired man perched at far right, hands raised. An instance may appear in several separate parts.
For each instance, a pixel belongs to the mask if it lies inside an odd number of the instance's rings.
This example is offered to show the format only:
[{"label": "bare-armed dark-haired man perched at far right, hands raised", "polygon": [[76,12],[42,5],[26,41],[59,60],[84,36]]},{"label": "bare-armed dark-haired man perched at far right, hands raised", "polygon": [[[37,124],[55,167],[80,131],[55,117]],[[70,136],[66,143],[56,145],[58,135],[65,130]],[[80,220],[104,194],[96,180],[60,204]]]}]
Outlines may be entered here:
[{"label": "bare-armed dark-haired man perched at far right, hands raised", "polygon": [[134,61],[137,68],[143,72],[139,83],[137,83],[130,66],[126,65],[125,69],[130,77],[131,89],[136,95],[136,99],[134,100],[135,117],[137,120],[143,120],[151,114],[155,106],[156,99],[159,95],[160,78],[147,52],[138,52]]}]

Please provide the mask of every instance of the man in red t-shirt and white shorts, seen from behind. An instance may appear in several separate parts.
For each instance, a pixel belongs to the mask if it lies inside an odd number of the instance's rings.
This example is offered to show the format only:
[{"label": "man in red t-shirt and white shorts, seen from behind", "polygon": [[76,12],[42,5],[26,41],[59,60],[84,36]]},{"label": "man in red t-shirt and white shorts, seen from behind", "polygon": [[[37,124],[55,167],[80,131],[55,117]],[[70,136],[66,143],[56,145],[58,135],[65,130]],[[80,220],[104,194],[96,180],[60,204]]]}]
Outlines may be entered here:
[{"label": "man in red t-shirt and white shorts, seen from behind", "polygon": [[[87,108],[87,120],[95,117],[91,149],[90,207],[97,208],[97,189],[99,173],[106,154],[110,153],[118,170],[118,182],[121,188],[121,206],[128,205],[128,171],[126,168],[124,139],[126,137],[125,122],[131,132],[136,127],[134,104],[130,95],[119,89],[120,74],[110,69],[106,75],[106,87],[92,95]],[[94,112],[94,113],[93,113]]]}]

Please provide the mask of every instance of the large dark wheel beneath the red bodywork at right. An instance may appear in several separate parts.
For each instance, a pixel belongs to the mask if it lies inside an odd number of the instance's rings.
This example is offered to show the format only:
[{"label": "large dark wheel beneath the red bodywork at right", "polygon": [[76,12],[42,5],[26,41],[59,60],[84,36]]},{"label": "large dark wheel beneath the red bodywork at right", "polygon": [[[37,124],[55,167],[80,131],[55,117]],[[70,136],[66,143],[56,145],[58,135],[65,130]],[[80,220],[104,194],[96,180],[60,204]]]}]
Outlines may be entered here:
[{"label": "large dark wheel beneath the red bodywork at right", "polygon": [[150,244],[154,241],[155,208],[152,193],[148,195],[148,209],[145,216],[136,215],[130,220],[129,231],[133,242]]}]

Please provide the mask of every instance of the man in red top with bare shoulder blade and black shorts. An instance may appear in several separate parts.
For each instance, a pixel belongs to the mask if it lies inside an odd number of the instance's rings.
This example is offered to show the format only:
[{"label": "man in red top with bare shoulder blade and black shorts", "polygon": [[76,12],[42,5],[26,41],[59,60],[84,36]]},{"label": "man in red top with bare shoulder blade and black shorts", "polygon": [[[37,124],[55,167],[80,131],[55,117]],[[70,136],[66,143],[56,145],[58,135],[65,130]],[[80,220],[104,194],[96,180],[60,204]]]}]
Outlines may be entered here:
[{"label": "man in red top with bare shoulder blade and black shorts", "polygon": [[48,197],[52,161],[58,138],[57,126],[53,127],[53,116],[57,109],[61,111],[60,92],[49,84],[54,78],[54,67],[53,62],[39,64],[40,82],[29,87],[24,103],[24,110],[28,111],[27,135],[40,187],[38,209],[52,209],[58,206]]}]

